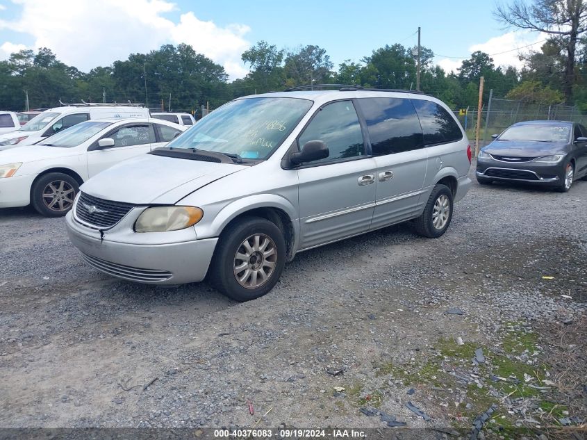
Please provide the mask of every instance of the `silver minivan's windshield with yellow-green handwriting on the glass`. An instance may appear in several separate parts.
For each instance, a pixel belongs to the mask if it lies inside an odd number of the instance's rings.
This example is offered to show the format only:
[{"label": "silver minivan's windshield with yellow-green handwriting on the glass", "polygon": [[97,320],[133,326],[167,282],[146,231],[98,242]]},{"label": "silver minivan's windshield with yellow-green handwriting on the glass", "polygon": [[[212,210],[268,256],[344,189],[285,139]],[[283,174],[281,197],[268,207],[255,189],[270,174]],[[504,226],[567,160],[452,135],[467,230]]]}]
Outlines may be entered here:
[{"label": "silver minivan's windshield with yellow-green handwriting on the glass", "polygon": [[199,120],[167,147],[265,159],[292,132],[313,101],[299,98],[236,99]]}]

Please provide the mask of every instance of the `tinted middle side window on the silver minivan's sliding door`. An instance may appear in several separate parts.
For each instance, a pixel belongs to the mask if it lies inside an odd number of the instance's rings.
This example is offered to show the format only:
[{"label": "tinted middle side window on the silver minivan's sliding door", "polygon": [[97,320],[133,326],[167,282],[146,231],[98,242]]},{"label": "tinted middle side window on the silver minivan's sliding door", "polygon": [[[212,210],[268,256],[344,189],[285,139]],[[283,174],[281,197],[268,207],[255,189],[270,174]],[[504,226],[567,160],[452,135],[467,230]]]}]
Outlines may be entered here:
[{"label": "tinted middle side window on the silver minivan's sliding door", "polygon": [[374,156],[424,147],[420,121],[409,99],[361,98],[358,103],[367,121]]}]

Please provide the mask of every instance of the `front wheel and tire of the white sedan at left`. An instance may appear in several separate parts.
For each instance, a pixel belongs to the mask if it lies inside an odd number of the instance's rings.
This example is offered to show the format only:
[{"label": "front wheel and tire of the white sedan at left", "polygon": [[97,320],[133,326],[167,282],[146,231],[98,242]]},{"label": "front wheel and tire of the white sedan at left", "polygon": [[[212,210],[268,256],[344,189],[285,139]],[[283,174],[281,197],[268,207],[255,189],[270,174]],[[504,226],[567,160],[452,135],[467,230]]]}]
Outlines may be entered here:
[{"label": "front wheel and tire of the white sedan at left", "polygon": [[44,174],[31,188],[31,204],[45,217],[63,217],[79,191],[76,179],[62,172]]}]

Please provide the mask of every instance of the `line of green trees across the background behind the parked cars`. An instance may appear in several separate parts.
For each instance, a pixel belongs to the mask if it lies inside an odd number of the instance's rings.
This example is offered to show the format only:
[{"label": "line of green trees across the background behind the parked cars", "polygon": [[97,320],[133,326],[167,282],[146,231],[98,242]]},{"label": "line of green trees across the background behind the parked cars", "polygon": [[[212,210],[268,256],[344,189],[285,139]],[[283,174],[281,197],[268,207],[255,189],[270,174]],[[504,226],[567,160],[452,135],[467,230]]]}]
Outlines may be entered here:
[{"label": "line of green trees across the background behind the parked cars", "polygon": [[[581,0],[566,1],[575,6],[579,3],[584,8]],[[548,6],[557,1],[538,0],[536,5],[541,3]],[[524,26],[531,20],[532,13],[545,20],[544,10],[540,15],[540,10],[520,9],[521,4],[502,8],[497,15],[501,14],[502,21],[509,19],[513,25],[516,19],[524,19],[524,13],[526,21],[521,22]],[[584,9],[575,9],[577,14],[584,13],[581,12]],[[585,17],[581,17],[579,28],[574,28],[572,34],[550,33],[540,49],[522,56],[524,67],[521,69],[496,67],[489,54],[476,51],[463,60],[457,72],[447,73],[433,64],[433,51],[422,47],[420,90],[442,99],[452,108],[475,107],[479,79],[483,76],[484,100],[493,89],[497,97],[538,104],[565,103],[587,112],[587,38],[583,36]],[[564,18],[553,19],[560,22]],[[543,31],[547,29],[547,24],[540,26]],[[131,54],[126,60],[95,67],[88,73],[60,62],[51,49],[41,48],[36,53],[22,50],[0,62],[0,109],[22,111],[26,93],[31,108],[54,107],[59,101],[101,102],[106,99],[118,103],[140,102],[151,108],[159,108],[163,102],[165,110],[169,110],[171,98],[172,110],[192,111],[201,105],[216,108],[243,95],[312,83],[413,90],[415,54],[414,47],[396,43],[374,49],[359,62],[345,60],[335,68],[322,47],[307,45],[286,50],[259,41],[242,54],[249,74],[229,81],[224,67],[198,54],[188,44],[165,44],[148,54]]]}]

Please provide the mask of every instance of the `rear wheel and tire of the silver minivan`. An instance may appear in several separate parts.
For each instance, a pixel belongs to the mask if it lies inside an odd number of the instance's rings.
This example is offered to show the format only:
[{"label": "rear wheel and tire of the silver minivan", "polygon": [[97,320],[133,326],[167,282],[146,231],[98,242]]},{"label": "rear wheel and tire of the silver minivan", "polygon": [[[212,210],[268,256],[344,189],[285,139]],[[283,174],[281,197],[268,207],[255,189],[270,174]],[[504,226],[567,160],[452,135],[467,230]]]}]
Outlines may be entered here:
[{"label": "rear wheel and tire of the silver minivan", "polygon": [[445,185],[436,185],[428,197],[424,212],[415,220],[416,232],[429,238],[443,235],[452,220],[453,206],[452,191]]}]

